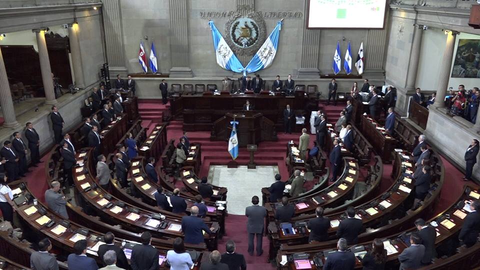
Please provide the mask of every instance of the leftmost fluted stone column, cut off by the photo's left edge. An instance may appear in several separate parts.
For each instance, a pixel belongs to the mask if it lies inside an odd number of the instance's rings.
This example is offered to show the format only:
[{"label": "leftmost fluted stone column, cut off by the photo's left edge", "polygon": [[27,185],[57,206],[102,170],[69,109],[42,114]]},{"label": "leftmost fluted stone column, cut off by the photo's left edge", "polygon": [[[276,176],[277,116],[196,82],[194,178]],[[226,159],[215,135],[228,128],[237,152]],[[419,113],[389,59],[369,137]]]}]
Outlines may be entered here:
[{"label": "leftmost fluted stone column, cut off by the photo's left edge", "polygon": [[6,76],[5,63],[0,49],[0,106],[3,113],[3,127],[14,128],[20,126],[15,118],[13,100],[11,99],[10,85]]}]

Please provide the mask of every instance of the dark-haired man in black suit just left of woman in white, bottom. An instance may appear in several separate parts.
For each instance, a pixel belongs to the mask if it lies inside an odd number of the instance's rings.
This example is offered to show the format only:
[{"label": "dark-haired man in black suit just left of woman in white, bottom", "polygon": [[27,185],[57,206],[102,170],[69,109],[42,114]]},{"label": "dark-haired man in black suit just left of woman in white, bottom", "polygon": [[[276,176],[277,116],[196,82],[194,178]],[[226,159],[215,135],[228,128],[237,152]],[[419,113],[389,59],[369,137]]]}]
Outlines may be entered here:
[{"label": "dark-haired man in black suit just left of woman in white, bottom", "polygon": [[130,266],[132,270],[158,269],[158,249],[150,245],[151,234],[145,231],[140,236],[141,244],[131,249]]}]

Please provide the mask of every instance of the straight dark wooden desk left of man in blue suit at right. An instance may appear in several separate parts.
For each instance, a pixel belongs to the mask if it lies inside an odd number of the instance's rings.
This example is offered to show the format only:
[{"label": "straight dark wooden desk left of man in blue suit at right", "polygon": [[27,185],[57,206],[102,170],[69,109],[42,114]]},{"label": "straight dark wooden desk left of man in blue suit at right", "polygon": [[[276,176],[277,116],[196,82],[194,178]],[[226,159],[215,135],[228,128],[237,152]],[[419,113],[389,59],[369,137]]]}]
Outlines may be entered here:
[{"label": "straight dark wooden desk left of man in blue suit at right", "polygon": [[391,151],[396,147],[397,140],[388,135],[384,128],[381,127],[370,116],[360,116],[361,120],[361,132],[368,141],[373,145],[373,149],[381,156],[381,159],[385,163],[389,163],[391,160]]}]

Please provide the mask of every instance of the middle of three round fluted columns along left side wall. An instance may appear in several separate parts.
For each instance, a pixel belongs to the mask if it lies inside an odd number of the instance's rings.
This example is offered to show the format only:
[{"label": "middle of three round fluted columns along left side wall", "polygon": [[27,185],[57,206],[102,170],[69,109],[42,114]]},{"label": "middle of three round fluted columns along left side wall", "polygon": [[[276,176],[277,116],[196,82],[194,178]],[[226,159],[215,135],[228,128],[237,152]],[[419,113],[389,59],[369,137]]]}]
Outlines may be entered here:
[{"label": "middle of three round fluted columns along left side wall", "polygon": [[43,81],[43,89],[45,90],[45,104],[55,104],[55,91],[53,89],[48,50],[46,49],[45,31],[41,29],[33,29],[32,31],[36,34],[36,42],[38,44],[41,80]]}]

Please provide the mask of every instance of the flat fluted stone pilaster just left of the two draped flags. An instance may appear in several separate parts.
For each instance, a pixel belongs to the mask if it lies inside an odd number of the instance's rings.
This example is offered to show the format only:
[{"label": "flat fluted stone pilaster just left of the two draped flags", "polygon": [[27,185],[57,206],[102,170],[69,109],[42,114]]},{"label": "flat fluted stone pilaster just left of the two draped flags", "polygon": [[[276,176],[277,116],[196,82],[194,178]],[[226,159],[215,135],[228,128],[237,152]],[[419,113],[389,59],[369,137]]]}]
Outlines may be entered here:
[{"label": "flat fluted stone pilaster just left of the two draped flags", "polygon": [[188,0],[169,0],[170,11],[170,76],[191,77],[190,38],[188,35]]}]

